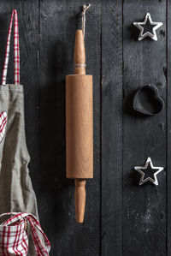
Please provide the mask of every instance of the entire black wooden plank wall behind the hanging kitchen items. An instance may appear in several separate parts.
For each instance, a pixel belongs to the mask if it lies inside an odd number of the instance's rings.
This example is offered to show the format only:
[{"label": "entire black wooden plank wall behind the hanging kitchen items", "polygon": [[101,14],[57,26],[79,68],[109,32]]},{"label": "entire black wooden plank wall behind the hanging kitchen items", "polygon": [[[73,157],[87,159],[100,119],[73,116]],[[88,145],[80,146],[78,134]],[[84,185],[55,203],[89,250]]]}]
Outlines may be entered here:
[{"label": "entire black wooden plank wall behind the hanging kitchen items", "polygon": [[[19,15],[29,169],[50,255],[170,256],[171,1],[91,1],[85,45],[94,82],[94,179],[86,185],[85,222],[78,224],[74,182],[65,178],[65,75],[73,73],[75,15],[83,3],[0,2],[0,76],[12,9]],[[157,42],[137,40],[133,21],[147,12],[163,22]],[[134,92],[147,83],[165,101],[158,116],[133,113]],[[165,168],[158,187],[140,187],[133,170],[147,157]]]}]

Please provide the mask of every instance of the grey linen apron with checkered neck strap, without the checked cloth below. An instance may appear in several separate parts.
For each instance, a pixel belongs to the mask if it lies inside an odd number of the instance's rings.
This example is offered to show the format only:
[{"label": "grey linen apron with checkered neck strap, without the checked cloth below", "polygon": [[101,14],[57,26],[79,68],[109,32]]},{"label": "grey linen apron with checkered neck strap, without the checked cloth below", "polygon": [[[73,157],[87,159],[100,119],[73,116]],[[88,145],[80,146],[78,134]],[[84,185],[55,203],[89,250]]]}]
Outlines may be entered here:
[{"label": "grey linen apron with checkered neck strap, without the checked cloth below", "polygon": [[[14,58],[15,84],[6,84],[10,36],[15,15]],[[9,25],[3,66],[3,82],[0,86],[0,214],[4,212],[29,212],[38,217],[37,200],[29,176],[24,119],[24,93],[20,85],[20,51],[17,12],[14,9]],[[36,255],[32,238],[29,253]]]}]

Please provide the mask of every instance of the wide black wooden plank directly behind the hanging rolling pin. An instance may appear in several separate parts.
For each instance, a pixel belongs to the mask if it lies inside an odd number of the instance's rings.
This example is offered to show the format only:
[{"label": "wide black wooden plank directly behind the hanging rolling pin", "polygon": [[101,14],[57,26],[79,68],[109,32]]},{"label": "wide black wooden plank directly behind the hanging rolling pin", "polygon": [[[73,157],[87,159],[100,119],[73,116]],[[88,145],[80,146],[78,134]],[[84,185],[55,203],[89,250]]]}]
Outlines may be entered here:
[{"label": "wide black wooden plank directly behind the hanging rolling pin", "polygon": [[75,15],[83,2],[40,2],[40,219],[51,255],[99,255],[100,245],[100,1],[87,11],[87,73],[94,84],[94,179],[86,185],[85,222],[74,217],[74,181],[65,174],[65,76],[74,73]]}]

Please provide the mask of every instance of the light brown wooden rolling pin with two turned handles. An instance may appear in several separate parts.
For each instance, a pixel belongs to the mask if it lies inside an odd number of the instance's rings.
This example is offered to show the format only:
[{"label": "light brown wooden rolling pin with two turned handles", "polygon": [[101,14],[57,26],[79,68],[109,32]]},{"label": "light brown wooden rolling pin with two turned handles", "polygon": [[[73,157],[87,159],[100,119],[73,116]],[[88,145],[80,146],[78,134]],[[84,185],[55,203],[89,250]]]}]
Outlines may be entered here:
[{"label": "light brown wooden rolling pin with two turned handles", "polygon": [[85,215],[85,183],[93,177],[92,75],[85,74],[85,43],[76,31],[74,74],[66,76],[67,177],[75,181],[76,221]]}]

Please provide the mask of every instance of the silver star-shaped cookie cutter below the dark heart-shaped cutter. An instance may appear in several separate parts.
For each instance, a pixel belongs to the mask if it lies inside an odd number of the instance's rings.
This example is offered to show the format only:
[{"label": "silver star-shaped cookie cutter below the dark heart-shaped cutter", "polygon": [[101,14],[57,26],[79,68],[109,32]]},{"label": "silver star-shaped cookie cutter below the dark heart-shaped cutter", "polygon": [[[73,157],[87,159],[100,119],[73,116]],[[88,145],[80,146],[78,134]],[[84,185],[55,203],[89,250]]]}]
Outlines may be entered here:
[{"label": "silver star-shaped cookie cutter below the dark heart-shaped cutter", "polygon": [[[153,169],[153,170],[156,170],[153,174],[154,176],[154,179],[152,179],[150,176],[148,176],[147,178],[144,179],[144,171],[143,170],[146,170],[148,168],[150,164],[150,168]],[[139,181],[139,185],[142,185],[144,184],[144,182],[152,182],[153,184],[155,184],[156,186],[158,185],[158,180],[156,178],[157,174],[159,174],[159,172],[161,172],[164,168],[163,167],[155,167],[153,166],[152,164],[152,161],[150,158],[147,158],[146,160],[146,163],[144,164],[144,166],[135,166],[134,167],[134,170],[137,170],[139,171],[139,173],[141,174],[141,177],[140,177],[140,181]]]}]

